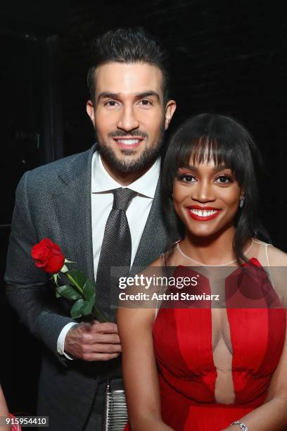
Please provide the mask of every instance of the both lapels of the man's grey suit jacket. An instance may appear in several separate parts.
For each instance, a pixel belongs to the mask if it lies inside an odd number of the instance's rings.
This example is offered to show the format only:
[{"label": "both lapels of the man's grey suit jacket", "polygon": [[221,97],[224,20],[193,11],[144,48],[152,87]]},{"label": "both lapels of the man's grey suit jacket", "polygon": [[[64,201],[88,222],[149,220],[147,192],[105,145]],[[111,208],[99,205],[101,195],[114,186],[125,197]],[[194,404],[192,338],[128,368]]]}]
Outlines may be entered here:
[{"label": "both lapels of the man's grey suit jacket", "polygon": [[[94,280],[94,257],[91,233],[91,160],[96,145],[77,155],[59,173],[60,192],[54,195],[65,256],[75,267]],[[146,268],[160,256],[167,244],[168,232],[162,219],[160,180],[141,235],[131,273]]]}]

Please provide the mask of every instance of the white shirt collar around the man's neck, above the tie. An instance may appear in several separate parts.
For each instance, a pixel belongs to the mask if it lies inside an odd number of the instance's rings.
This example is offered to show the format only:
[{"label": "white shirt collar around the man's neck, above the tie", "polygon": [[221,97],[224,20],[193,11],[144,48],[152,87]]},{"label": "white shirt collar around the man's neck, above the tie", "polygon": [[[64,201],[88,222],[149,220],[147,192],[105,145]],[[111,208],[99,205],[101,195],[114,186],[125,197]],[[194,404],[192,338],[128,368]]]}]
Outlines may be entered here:
[{"label": "white shirt collar around the man's neck, above the tie", "polygon": [[[155,189],[160,176],[160,158],[157,158],[155,163],[149,168],[144,175],[128,186],[138,194],[153,198]],[[103,167],[101,155],[98,151],[94,152],[91,161],[91,192],[101,193],[110,192],[110,190],[123,187],[119,182],[115,181]]]}]

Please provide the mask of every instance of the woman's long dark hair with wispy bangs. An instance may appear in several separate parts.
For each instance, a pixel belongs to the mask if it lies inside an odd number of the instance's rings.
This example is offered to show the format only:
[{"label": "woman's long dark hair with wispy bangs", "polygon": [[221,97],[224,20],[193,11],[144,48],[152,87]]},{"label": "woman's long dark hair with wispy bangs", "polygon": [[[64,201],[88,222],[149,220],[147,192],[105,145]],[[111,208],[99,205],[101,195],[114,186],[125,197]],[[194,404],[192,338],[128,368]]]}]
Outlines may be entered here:
[{"label": "woman's long dark hair with wispy bangs", "polygon": [[[180,232],[184,223],[174,211],[172,189],[178,169],[193,163],[214,161],[215,165],[231,169],[239,187],[244,188],[245,201],[238,208],[234,225],[234,251],[237,259],[247,261],[243,246],[249,237],[269,242],[269,237],[257,220],[257,168],[262,157],[248,130],[233,118],[203,113],[186,120],[174,133],[167,148],[162,168],[162,206],[170,237]],[[168,244],[167,249],[172,244]]]}]

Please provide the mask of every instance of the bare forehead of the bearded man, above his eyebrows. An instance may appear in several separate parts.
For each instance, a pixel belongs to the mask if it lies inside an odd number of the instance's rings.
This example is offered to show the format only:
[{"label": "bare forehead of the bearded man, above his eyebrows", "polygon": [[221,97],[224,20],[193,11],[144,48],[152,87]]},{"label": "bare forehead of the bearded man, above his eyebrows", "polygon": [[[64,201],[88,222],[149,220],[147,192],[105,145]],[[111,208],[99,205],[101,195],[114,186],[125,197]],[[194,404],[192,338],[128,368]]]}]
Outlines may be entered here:
[{"label": "bare forehead of the bearded man, above his eyebrows", "polygon": [[148,63],[106,63],[96,68],[95,79],[96,93],[162,92],[162,72]]}]

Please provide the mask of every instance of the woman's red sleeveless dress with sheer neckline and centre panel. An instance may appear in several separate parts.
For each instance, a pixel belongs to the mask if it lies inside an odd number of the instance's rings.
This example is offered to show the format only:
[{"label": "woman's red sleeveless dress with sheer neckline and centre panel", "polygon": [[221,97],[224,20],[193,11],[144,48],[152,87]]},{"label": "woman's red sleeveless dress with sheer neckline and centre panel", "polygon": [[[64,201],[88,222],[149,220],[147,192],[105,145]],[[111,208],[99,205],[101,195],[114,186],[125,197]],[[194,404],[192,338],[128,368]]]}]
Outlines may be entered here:
[{"label": "woman's red sleeveless dress with sheer neckline and centre panel", "polygon": [[174,279],[200,280],[167,288],[192,300],[167,296],[155,310],[162,420],[174,431],[221,431],[266,399],[286,335],[286,256],[279,268],[281,251],[257,239],[248,251],[245,265],[211,271],[174,251]]}]

